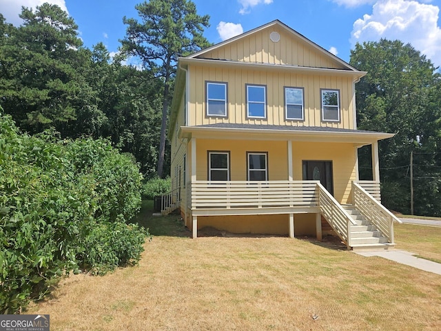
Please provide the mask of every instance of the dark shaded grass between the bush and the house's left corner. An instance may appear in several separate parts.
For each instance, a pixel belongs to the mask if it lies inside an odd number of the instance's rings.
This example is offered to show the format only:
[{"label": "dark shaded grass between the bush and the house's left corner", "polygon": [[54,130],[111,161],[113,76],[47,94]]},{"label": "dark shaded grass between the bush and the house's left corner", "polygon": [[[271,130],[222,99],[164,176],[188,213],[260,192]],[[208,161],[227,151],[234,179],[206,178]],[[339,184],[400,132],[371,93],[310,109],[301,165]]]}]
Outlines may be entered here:
[{"label": "dark shaded grass between the bush and the house's left corner", "polygon": [[132,219],[132,223],[148,228],[150,234],[165,237],[190,237],[191,232],[185,228],[181,215],[172,213],[169,215],[154,215],[153,201],[143,200],[141,211]]}]

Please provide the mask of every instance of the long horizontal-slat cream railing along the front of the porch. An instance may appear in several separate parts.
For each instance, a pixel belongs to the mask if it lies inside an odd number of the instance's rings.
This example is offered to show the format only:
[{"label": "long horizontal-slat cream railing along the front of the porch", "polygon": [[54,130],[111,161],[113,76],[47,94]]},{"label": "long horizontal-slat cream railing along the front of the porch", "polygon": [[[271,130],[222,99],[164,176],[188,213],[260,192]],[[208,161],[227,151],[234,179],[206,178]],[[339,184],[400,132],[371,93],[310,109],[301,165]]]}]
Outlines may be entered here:
[{"label": "long horizontal-slat cream railing along the front of the porch", "polygon": [[[318,207],[317,181],[194,181],[193,213],[197,210]],[[195,214],[195,213],[194,213]]]}]

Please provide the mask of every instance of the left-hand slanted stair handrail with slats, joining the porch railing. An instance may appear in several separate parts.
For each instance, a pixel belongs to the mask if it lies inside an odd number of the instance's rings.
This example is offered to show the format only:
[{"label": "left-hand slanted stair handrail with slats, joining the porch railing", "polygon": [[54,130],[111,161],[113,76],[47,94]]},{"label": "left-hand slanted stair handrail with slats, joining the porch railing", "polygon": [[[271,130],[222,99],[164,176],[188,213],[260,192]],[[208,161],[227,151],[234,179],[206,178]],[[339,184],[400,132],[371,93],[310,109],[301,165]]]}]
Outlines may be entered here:
[{"label": "left-hand slanted stair handrail with slats, joining the porch railing", "polygon": [[[317,187],[319,190],[318,201],[319,201],[320,211],[322,212],[322,215],[325,216],[325,218],[328,218],[327,221],[328,221],[329,225],[331,225],[331,227],[334,229],[334,231],[336,231],[336,233],[338,234],[338,237],[340,237],[340,239],[345,241],[348,248],[351,247],[351,225],[357,225],[356,221],[354,221],[352,219],[351,215],[349,215],[349,213],[344,208],[342,208],[342,205],[340,205],[340,203],[338,203],[338,201],[331,195],[331,193],[329,193],[329,191],[320,182],[317,183]],[[331,217],[329,217],[329,215],[326,213],[326,210],[323,207],[321,194],[323,194],[329,201],[331,201],[331,203],[332,203],[331,208],[336,208],[337,212],[339,212],[340,214],[343,215],[343,217],[346,220],[346,227],[345,228],[342,228],[341,226],[339,226],[339,223],[335,222],[335,220],[332,219],[332,215],[331,215]],[[332,212],[331,212],[331,214],[332,214]],[[345,235],[343,235],[342,233],[344,233]]]}]

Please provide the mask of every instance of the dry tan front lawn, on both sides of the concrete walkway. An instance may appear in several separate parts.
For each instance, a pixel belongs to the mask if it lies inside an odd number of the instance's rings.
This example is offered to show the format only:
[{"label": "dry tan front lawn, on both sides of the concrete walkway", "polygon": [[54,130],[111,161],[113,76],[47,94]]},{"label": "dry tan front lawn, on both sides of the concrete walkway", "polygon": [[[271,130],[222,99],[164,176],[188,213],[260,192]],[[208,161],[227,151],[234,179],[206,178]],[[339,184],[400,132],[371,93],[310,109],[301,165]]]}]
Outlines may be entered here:
[{"label": "dry tan front lawn, on both sides of the concrete walkway", "polygon": [[[139,222],[154,237],[138,266],[73,275],[25,313],[50,314],[51,330],[441,330],[438,274],[313,239],[193,240],[177,214]],[[437,257],[440,238],[396,226],[418,254]]]}]

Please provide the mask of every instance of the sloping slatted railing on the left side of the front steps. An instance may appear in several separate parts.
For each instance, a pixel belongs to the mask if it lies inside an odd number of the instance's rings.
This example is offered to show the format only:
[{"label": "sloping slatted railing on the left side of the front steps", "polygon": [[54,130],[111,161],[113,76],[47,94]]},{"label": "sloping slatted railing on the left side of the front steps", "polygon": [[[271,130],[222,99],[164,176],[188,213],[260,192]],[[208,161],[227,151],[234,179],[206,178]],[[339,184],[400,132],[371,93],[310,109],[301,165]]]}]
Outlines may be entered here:
[{"label": "sloping slatted railing on the left side of the front steps", "polygon": [[356,225],[355,221],[322,184],[317,183],[317,188],[320,212],[338,234],[338,237],[345,241],[349,247],[351,245],[351,225]]}]

